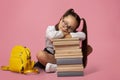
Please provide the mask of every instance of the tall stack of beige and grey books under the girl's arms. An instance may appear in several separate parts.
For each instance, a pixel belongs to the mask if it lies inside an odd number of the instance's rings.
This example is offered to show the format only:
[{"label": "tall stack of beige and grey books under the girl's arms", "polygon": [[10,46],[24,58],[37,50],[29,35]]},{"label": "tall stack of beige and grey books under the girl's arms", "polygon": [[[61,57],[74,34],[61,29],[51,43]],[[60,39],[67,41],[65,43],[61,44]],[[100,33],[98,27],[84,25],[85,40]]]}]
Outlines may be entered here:
[{"label": "tall stack of beige and grey books under the girl's arms", "polygon": [[54,39],[57,76],[83,76],[82,50],[79,38]]}]

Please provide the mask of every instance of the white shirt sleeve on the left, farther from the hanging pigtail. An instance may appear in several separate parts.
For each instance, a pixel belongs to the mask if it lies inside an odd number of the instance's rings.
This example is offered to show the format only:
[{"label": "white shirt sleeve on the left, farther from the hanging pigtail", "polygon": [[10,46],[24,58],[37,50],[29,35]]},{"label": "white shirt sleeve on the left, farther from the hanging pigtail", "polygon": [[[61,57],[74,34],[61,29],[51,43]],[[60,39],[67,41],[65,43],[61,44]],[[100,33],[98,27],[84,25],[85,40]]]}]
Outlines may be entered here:
[{"label": "white shirt sleeve on the left, farther from the hanging pigtail", "polygon": [[48,26],[46,30],[46,37],[49,39],[62,38],[64,35],[62,31],[56,31],[55,26]]}]

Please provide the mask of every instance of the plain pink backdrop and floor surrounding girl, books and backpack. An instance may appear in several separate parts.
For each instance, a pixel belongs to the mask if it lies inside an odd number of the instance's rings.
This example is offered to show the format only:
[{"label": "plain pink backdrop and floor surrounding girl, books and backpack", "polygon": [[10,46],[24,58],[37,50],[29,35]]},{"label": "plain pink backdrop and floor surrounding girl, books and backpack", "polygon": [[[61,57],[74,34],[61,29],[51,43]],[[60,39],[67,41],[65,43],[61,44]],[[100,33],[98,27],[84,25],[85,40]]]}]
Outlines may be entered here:
[{"label": "plain pink backdrop and floor surrounding girl, books and backpack", "polygon": [[15,45],[31,49],[32,60],[45,46],[45,30],[74,8],[88,25],[88,57],[83,77],[57,77],[41,71],[22,75],[0,70],[3,80],[120,80],[120,0],[0,0],[0,66],[8,65]]}]

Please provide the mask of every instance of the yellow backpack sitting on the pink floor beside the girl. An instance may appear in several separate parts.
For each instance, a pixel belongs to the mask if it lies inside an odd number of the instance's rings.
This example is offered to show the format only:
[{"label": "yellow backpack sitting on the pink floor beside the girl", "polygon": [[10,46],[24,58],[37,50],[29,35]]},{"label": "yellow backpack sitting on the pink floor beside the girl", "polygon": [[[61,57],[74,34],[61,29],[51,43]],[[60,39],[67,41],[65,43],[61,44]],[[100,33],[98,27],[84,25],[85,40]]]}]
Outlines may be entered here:
[{"label": "yellow backpack sitting on the pink floor beside the girl", "polygon": [[17,45],[11,51],[9,66],[1,66],[1,69],[23,74],[38,73],[38,70],[33,69],[33,66],[34,61],[31,61],[29,48]]}]

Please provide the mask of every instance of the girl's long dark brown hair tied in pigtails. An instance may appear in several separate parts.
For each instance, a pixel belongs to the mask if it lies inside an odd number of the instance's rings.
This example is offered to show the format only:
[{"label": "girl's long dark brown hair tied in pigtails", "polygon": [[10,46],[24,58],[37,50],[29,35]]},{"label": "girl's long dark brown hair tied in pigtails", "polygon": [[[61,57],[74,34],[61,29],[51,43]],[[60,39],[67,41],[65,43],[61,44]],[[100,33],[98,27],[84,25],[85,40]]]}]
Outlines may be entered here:
[{"label": "girl's long dark brown hair tied in pigtails", "polygon": [[[88,46],[88,37],[87,37],[87,24],[84,18],[80,18],[79,15],[74,11],[74,9],[68,9],[62,16],[62,18],[72,15],[78,22],[76,29],[80,26],[81,21],[83,21],[82,32],[86,34],[86,39],[82,41],[82,52],[83,52],[83,66],[87,65],[87,46]],[[59,23],[58,23],[59,24]],[[56,30],[58,30],[58,24],[55,25]],[[73,32],[77,32],[76,29]]]}]

